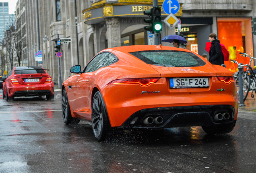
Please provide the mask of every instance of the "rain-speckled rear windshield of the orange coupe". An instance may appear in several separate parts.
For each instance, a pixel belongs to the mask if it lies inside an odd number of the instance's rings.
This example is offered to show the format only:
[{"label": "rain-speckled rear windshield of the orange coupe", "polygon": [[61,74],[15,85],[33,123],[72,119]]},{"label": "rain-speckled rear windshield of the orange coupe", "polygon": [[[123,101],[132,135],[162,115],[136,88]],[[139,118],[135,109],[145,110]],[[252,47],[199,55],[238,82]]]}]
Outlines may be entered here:
[{"label": "rain-speckled rear windshield of the orange coupe", "polygon": [[193,67],[206,64],[201,58],[191,52],[173,50],[148,50],[130,52],[147,64],[168,67]]}]

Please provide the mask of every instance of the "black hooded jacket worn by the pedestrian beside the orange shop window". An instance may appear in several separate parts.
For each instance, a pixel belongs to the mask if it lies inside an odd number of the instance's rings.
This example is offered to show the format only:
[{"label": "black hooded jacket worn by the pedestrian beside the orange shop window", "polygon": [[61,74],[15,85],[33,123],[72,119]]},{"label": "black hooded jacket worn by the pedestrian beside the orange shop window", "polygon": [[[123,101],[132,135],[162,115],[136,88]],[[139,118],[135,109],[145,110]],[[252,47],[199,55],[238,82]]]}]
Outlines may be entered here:
[{"label": "black hooded jacket worn by the pedestrian beside the orange shop window", "polygon": [[212,41],[212,46],[209,51],[209,62],[216,65],[224,64],[224,56],[221,51],[221,44],[219,44],[219,40],[215,39]]}]

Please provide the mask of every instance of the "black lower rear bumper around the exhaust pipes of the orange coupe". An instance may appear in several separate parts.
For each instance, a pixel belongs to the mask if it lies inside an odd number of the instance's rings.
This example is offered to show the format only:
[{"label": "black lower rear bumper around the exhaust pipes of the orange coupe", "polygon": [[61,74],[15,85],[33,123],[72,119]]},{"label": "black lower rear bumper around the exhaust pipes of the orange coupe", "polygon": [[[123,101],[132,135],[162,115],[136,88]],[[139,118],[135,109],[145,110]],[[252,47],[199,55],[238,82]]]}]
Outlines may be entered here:
[{"label": "black lower rear bumper around the exhaust pipes of the orange coupe", "polygon": [[[218,113],[229,113],[229,119],[214,120]],[[162,123],[145,124],[148,117],[162,117]],[[211,126],[232,123],[235,120],[234,108],[231,105],[202,105],[150,108],[132,114],[120,127],[122,128],[168,128]]]}]

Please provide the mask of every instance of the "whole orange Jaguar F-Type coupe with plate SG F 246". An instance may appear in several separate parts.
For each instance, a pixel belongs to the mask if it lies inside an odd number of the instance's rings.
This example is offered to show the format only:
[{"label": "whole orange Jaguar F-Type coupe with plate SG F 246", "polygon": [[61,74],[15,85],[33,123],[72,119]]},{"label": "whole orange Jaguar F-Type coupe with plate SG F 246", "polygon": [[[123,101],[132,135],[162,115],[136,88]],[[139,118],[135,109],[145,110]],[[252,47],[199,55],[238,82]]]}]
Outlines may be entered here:
[{"label": "whole orange Jaguar F-Type coupe with plate SG F 246", "polygon": [[208,134],[235,127],[233,74],[200,55],[169,46],[123,46],[99,52],[62,84],[64,123],[85,121],[97,141],[113,127],[202,126]]}]

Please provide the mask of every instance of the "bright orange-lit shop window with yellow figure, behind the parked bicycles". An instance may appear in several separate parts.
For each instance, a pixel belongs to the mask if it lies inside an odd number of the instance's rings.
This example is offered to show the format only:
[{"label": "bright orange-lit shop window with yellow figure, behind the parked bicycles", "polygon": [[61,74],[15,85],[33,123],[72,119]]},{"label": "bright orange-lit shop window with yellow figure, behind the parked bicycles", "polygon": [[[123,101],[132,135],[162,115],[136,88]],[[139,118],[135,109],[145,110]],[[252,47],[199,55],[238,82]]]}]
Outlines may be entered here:
[{"label": "bright orange-lit shop window with yellow figure, behind the parked bicycles", "polygon": [[[249,64],[250,58],[240,56],[245,52],[253,56],[251,18],[217,18],[218,39],[229,51],[229,59]],[[237,64],[225,61],[231,72],[237,71]]]}]

